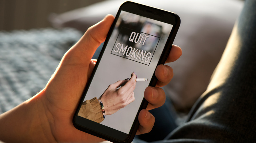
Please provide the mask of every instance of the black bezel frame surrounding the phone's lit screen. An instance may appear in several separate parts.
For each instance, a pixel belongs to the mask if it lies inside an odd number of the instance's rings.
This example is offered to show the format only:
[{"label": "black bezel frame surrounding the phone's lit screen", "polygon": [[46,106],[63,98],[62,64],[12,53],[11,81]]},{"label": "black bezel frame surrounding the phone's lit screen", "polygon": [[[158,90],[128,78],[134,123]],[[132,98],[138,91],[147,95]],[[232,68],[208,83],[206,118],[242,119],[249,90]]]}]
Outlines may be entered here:
[{"label": "black bezel frame surrounding the phone's lit screen", "polygon": [[[180,26],[180,17],[177,14],[169,12],[169,11],[165,11],[165,10],[161,10],[161,9],[158,9],[158,8],[153,8],[153,7],[141,5],[141,4],[134,3],[134,2],[125,2],[120,6],[120,8],[117,12],[116,18],[115,18],[115,20],[114,20],[114,22],[113,22],[113,24],[110,28],[110,32],[108,33],[107,38],[106,38],[105,41],[109,40],[110,35],[112,34],[112,31],[113,31],[113,29],[114,29],[114,27],[117,23],[117,19],[118,19],[119,15],[120,15],[120,12],[122,10],[173,25],[173,28],[170,32],[170,35],[169,35],[168,40],[167,40],[167,42],[164,46],[163,52],[160,56],[160,60],[159,60],[157,65],[164,64],[164,62],[165,62],[165,60],[166,60],[166,58],[167,58],[167,56],[168,56],[168,54],[171,50],[171,46],[172,46],[174,38],[177,34],[178,28]],[[85,118],[82,118],[80,116],[77,116],[78,111],[81,107],[81,104],[83,103],[83,100],[85,98],[85,94],[88,90],[88,85],[90,85],[90,83],[92,81],[92,78],[93,78],[94,73],[95,73],[95,71],[98,67],[98,63],[101,60],[101,56],[104,53],[106,45],[107,45],[107,42],[105,42],[104,45],[103,45],[103,48],[100,52],[99,58],[96,62],[95,68],[92,72],[92,75],[89,79],[89,82],[87,83],[87,85],[84,89],[83,95],[81,97],[81,100],[80,100],[79,105],[76,109],[75,115],[73,117],[73,124],[74,124],[75,128],[77,128],[78,130],[81,130],[81,131],[84,131],[86,133],[101,137],[103,139],[107,139],[111,142],[132,142],[132,140],[133,140],[133,138],[136,134],[137,128],[139,127],[139,121],[138,121],[139,112],[136,115],[136,118],[133,122],[133,125],[132,125],[132,128],[131,128],[129,134],[120,132],[120,131],[115,130],[113,128],[102,125],[100,123],[96,123],[94,121],[91,121],[89,119],[85,119]],[[154,72],[152,80],[149,83],[149,86],[155,86],[156,83],[157,83],[157,78],[156,78],[155,72]],[[141,109],[146,108],[147,104],[148,104],[148,102],[145,99],[143,99],[142,103],[139,107],[139,111]]]}]

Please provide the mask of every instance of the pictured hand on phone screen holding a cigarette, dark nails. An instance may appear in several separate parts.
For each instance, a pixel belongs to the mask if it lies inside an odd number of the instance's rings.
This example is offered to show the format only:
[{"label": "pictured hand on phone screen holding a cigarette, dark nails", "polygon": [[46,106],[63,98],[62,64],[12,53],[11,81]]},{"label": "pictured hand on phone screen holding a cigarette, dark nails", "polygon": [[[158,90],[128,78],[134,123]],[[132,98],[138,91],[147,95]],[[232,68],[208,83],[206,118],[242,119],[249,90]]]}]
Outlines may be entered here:
[{"label": "pictured hand on phone screen holding a cigarette, dark nails", "polygon": [[[134,98],[134,92],[136,86],[136,75],[133,72],[131,80],[120,80],[114,84],[111,84],[106,91],[100,96],[104,104],[104,110],[106,115],[116,113],[119,109],[132,103]],[[120,87],[122,86],[122,87]],[[120,87],[117,89],[117,87]]]}]

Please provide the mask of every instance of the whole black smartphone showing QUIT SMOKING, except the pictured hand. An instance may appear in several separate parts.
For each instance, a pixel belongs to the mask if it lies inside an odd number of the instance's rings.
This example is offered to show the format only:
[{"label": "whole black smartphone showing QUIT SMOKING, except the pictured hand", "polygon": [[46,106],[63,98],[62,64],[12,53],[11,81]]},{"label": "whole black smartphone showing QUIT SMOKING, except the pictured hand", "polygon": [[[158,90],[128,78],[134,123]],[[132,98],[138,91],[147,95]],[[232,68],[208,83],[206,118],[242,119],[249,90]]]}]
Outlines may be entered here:
[{"label": "whole black smartphone showing QUIT SMOKING, except the pictured hand", "polygon": [[[148,104],[144,90],[156,85],[156,67],[164,64],[179,26],[180,18],[175,13],[123,3],[76,109],[74,126],[111,142],[132,142],[139,126],[139,111]],[[117,81],[122,84],[115,90],[124,87],[129,81],[124,79],[131,78],[132,72],[137,76],[132,89],[134,101],[106,115],[103,106],[107,103],[98,99]]]}]

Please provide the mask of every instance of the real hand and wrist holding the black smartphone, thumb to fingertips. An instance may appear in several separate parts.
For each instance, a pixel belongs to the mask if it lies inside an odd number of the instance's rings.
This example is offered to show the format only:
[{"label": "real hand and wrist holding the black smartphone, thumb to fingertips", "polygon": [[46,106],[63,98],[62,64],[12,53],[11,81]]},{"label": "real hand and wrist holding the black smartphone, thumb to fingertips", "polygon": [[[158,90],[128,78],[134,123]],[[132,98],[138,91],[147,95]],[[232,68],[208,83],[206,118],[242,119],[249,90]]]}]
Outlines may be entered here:
[{"label": "real hand and wrist holding the black smartphone, thumb to fingertips", "polygon": [[[106,16],[90,27],[83,37],[63,56],[46,87],[31,99],[0,115],[0,140],[5,142],[100,142],[96,136],[77,130],[72,123],[75,109],[96,60],[91,60],[96,48],[109,31],[114,17]],[[181,56],[181,49],[173,46],[167,62]],[[170,67],[156,69],[157,87],[147,87],[144,97],[147,110],[161,106],[165,101],[161,86],[173,76]],[[19,121],[17,121],[17,119]],[[149,132],[154,117],[146,110],[139,113],[138,134]]]}]

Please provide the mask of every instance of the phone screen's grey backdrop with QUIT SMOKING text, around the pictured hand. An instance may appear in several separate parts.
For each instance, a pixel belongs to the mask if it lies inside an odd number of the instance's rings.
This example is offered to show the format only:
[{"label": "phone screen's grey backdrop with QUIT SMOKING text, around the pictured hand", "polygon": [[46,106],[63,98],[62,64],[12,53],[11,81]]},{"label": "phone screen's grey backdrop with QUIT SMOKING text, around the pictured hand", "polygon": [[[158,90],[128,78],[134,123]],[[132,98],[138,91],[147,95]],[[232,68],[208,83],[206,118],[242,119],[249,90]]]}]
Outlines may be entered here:
[{"label": "phone screen's grey backdrop with QUIT SMOKING text, around the pictured hand", "polygon": [[160,56],[173,25],[121,11],[96,72],[86,92],[84,102],[99,98],[107,87],[119,80],[131,78],[135,72],[135,101],[100,122],[100,124],[128,134],[134,123]]}]

